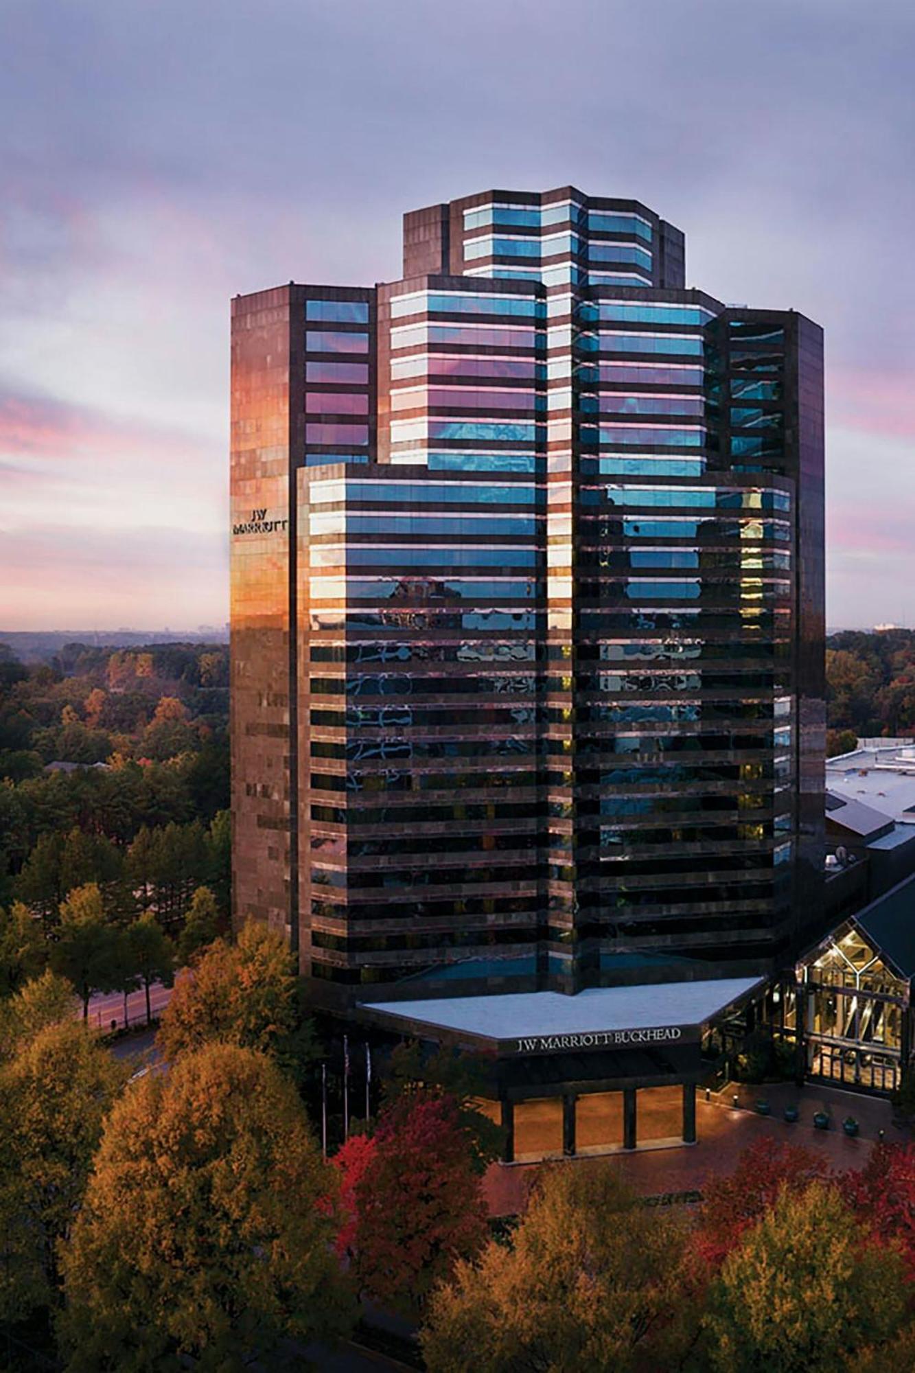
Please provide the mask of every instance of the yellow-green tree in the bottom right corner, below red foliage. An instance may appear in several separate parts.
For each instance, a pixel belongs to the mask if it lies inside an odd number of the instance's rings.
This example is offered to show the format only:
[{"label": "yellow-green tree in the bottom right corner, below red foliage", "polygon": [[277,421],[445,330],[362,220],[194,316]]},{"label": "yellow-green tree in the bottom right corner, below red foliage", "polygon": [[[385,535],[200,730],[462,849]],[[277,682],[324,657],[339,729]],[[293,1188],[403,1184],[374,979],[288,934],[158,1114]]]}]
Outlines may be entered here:
[{"label": "yellow-green tree in the bottom right corner, below red foliage", "polygon": [[708,1366],[831,1373],[896,1339],[907,1306],[903,1258],[868,1243],[835,1186],[784,1189],[709,1289]]}]

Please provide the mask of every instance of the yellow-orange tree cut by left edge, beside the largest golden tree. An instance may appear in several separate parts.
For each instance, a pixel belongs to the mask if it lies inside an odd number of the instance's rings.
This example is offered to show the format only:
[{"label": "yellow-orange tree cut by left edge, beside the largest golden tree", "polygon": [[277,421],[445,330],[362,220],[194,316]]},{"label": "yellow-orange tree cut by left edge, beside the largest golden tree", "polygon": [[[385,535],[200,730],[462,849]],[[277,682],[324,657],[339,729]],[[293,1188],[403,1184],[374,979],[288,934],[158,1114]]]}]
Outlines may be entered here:
[{"label": "yellow-orange tree cut by left edge, beside the largest golden tree", "polygon": [[0,1067],[1,1319],[55,1302],[58,1245],[128,1071],[74,1020],[45,1026]]}]

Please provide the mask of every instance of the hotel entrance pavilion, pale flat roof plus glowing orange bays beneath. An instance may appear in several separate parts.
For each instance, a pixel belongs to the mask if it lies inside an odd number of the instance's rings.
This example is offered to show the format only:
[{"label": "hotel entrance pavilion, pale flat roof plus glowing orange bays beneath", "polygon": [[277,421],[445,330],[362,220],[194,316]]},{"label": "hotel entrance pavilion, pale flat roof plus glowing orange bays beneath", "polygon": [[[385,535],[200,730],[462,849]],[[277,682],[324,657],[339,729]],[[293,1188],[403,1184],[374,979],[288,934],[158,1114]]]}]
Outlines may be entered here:
[{"label": "hotel entrance pavilion, pale flat roof plus glowing orange bays beneath", "polygon": [[[506,1162],[695,1142],[705,1026],[758,978],[361,1002],[379,1028],[470,1050],[489,1067]],[[492,1111],[490,1111],[492,1114]]]}]

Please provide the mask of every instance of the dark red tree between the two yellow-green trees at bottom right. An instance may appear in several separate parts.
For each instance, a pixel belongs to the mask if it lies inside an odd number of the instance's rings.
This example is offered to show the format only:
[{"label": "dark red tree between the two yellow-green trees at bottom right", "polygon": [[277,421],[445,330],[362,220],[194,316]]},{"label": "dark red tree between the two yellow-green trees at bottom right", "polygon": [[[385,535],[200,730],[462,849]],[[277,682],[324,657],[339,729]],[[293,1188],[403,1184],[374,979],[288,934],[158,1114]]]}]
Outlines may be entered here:
[{"label": "dark red tree between the two yellow-green trees at bottom right", "polygon": [[826,1159],[802,1145],[768,1137],[756,1140],[743,1151],[734,1173],[708,1184],[695,1240],[699,1256],[719,1267],[743,1232],[775,1205],[783,1188],[804,1192],[827,1174]]}]

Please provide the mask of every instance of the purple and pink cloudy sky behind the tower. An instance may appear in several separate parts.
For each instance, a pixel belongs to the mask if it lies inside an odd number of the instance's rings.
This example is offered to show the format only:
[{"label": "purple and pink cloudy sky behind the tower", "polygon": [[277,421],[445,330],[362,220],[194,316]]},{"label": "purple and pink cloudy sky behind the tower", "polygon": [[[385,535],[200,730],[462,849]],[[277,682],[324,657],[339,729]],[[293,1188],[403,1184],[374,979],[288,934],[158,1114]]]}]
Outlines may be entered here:
[{"label": "purple and pink cloudy sky behind the tower", "polygon": [[915,622],[910,0],[4,0],[0,627],[227,618],[228,301],[492,185],[827,336],[828,622]]}]

